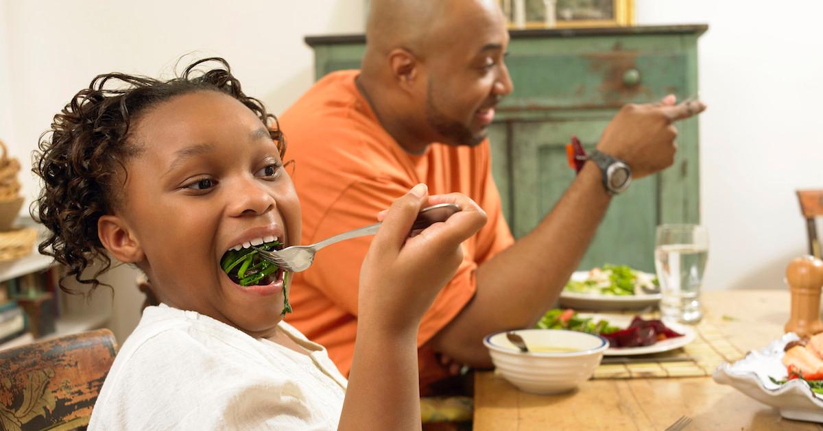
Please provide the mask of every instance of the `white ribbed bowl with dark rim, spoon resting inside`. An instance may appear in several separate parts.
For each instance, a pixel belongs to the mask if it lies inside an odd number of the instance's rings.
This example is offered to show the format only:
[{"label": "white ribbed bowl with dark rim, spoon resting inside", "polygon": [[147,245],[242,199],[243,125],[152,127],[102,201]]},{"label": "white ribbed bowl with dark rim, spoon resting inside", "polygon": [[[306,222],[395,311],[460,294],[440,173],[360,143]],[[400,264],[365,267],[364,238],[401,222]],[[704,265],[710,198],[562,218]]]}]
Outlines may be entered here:
[{"label": "white ribbed bowl with dark rim, spoon resting inside", "polygon": [[506,331],[486,336],[491,362],[503,377],[523,392],[569,392],[592,377],[609,348],[602,336],[561,329],[521,329],[516,332],[527,346],[566,347],[567,352],[523,353],[506,338]]}]

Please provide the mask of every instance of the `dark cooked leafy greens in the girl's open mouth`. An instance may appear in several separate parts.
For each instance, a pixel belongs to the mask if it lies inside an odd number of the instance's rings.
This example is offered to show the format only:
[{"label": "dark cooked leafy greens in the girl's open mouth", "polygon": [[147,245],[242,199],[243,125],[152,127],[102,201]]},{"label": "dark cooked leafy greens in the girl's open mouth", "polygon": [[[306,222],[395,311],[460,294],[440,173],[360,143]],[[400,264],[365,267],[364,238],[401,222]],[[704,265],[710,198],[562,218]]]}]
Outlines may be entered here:
[{"label": "dark cooked leafy greens in the girl's open mouth", "polygon": [[[263,243],[256,247],[263,250],[274,250],[282,248],[283,243],[273,241],[271,243]],[[280,267],[268,262],[260,257],[260,253],[254,248],[240,248],[239,250],[229,250],[223,255],[220,261],[223,271],[229,278],[238,285],[248,287],[252,285],[269,285],[277,280],[280,276]],[[289,273],[283,271],[283,313],[291,313],[291,304],[289,304],[288,288]]]}]

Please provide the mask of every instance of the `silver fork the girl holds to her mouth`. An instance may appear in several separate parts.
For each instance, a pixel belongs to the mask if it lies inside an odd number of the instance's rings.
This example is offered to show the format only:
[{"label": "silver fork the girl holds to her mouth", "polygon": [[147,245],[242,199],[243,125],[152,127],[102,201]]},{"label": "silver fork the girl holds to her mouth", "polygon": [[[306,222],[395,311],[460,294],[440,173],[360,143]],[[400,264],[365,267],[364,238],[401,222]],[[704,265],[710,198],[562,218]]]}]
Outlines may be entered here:
[{"label": "silver fork the girl holds to her mouth", "polygon": [[[412,231],[425,229],[438,221],[444,221],[458,211],[460,211],[460,207],[453,203],[427,206],[417,215],[417,219],[412,225]],[[300,272],[309,269],[309,266],[314,262],[314,253],[317,253],[320,248],[332,245],[333,243],[339,243],[345,239],[374,235],[382,224],[382,222],[379,222],[360,229],[343,232],[342,234],[334,235],[331,238],[323,239],[323,241],[311,245],[292,245],[282,250],[272,251],[267,251],[256,246],[252,246],[252,248],[258,251],[260,257],[280,266],[283,271]]]}]

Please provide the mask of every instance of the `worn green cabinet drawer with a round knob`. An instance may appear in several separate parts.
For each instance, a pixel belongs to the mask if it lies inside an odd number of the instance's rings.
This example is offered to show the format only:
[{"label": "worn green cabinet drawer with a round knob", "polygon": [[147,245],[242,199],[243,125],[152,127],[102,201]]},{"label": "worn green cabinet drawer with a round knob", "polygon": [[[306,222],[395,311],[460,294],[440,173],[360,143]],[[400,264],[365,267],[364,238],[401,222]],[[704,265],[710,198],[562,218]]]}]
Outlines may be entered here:
[{"label": "worn green cabinet drawer with a round knob", "polygon": [[696,67],[683,46],[679,37],[513,40],[505,61],[514,91],[500,108],[616,108],[670,93],[687,97]]}]

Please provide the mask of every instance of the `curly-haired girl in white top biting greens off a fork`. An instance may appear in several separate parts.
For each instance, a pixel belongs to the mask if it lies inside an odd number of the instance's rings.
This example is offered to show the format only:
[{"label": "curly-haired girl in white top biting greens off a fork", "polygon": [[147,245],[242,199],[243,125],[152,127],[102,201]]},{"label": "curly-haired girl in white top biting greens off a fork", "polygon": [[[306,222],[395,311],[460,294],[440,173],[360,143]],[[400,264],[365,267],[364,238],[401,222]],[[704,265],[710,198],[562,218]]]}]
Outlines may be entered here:
[{"label": "curly-haired girl in white top biting greens off a fork", "polygon": [[[40,251],[91,290],[109,255],[131,263],[161,302],[120,349],[90,429],[420,429],[418,325],[486,215],[424,184],[378,215],[346,382],[282,321],[287,274],[238,258],[300,243],[285,151],[221,58],[169,81],[97,76],[55,115],[34,168],[50,231]],[[421,207],[446,202],[462,211],[408,237]]]}]

